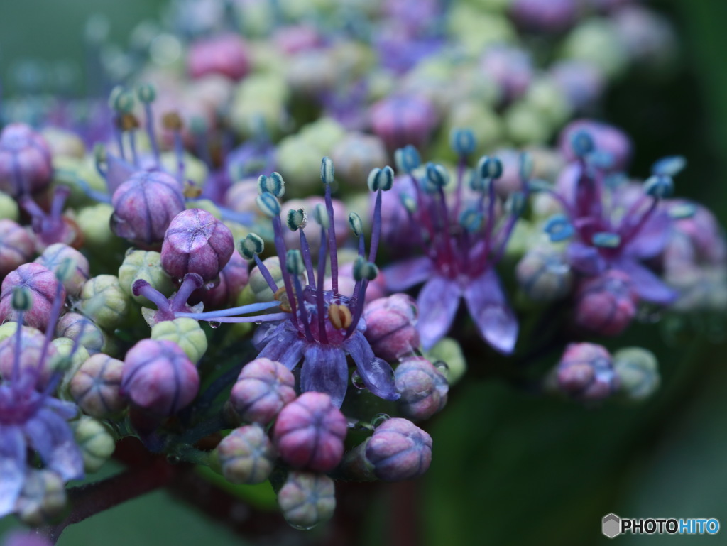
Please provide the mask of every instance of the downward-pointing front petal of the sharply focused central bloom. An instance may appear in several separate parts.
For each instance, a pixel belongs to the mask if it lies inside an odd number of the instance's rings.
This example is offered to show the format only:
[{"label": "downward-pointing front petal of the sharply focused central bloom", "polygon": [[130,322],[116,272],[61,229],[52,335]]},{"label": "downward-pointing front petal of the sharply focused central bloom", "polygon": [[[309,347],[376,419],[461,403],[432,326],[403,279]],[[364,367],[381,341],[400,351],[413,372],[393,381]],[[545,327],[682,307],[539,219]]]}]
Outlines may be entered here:
[{"label": "downward-pointing front petal of the sharply focused central bloom", "polygon": [[341,348],[332,345],[308,345],[300,370],[300,388],[326,393],[337,408],[343,404],[348,388],[348,364]]}]

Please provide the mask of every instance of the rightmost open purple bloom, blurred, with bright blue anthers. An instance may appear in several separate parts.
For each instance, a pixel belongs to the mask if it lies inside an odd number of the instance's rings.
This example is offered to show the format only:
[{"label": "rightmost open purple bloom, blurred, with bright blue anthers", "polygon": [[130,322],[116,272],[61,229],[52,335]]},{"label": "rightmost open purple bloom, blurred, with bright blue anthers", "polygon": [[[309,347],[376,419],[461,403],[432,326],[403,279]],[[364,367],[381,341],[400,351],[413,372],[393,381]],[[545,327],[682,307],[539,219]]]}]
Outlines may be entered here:
[{"label": "rightmost open purple bloom, blurred, with bright blue anthers", "polygon": [[669,305],[676,293],[644,262],[661,254],[670,239],[673,220],[662,201],[672,193],[672,174],[683,164],[657,162],[639,187],[611,172],[612,153],[601,154],[588,132],[575,132],[571,142],[576,159],[551,192],[564,213],[546,223],[551,240],[572,237],[567,255],[577,272],[621,271],[641,300]]}]

